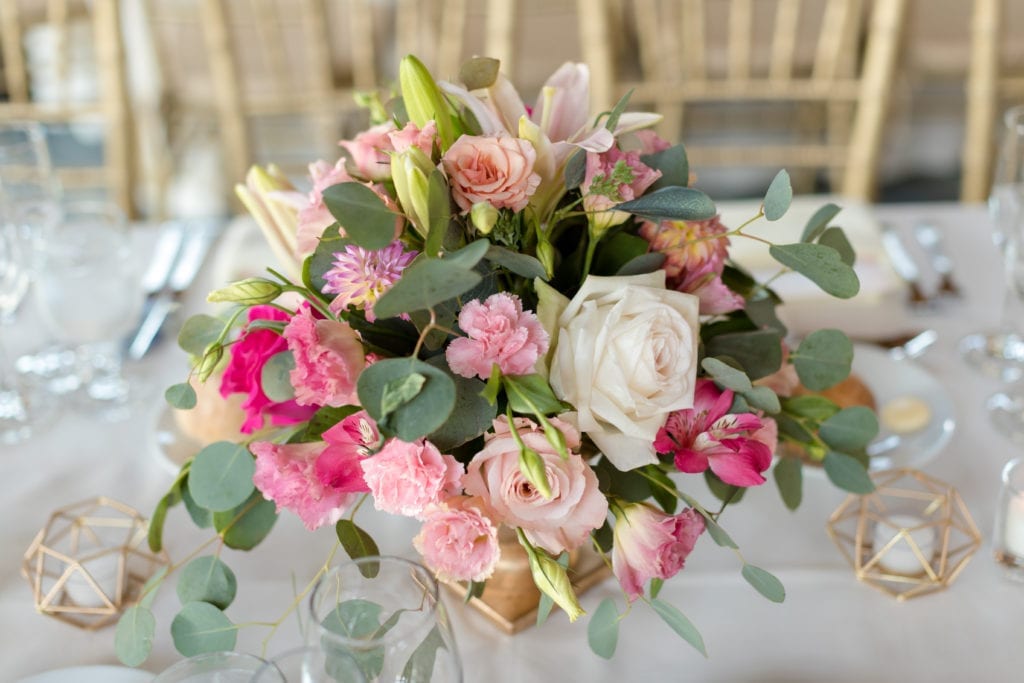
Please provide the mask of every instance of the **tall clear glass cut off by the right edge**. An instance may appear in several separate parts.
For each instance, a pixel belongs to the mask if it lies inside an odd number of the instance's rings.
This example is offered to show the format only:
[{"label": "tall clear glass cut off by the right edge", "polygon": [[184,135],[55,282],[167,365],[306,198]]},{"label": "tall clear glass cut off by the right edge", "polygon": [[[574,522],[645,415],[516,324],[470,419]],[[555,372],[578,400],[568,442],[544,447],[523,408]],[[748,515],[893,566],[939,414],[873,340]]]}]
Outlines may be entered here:
[{"label": "tall clear glass cut off by the right edge", "polygon": [[1002,252],[1004,291],[998,329],[976,332],[961,340],[961,353],[982,373],[1013,382],[1024,377],[1024,334],[1015,307],[1024,298],[1024,105],[1004,116],[999,156],[988,200],[992,241]]}]

